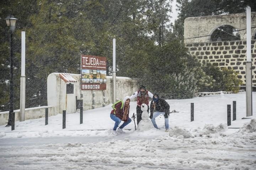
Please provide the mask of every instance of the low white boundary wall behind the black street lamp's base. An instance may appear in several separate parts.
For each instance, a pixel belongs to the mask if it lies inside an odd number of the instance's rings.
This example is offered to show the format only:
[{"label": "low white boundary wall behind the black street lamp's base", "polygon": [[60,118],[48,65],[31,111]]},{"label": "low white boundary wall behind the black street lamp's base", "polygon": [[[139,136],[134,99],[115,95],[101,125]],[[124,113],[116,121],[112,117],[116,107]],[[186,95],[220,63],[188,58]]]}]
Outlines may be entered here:
[{"label": "low white boundary wall behind the black street lamp's base", "polygon": [[[53,116],[54,115],[53,106],[41,106],[36,108],[25,109],[25,120],[38,119],[41,117],[45,117],[46,108],[48,108],[48,116]],[[14,112],[15,112],[15,121],[20,121],[20,109],[14,110]],[[9,111],[0,112],[0,125],[6,125],[8,122],[8,118],[9,118]]]}]

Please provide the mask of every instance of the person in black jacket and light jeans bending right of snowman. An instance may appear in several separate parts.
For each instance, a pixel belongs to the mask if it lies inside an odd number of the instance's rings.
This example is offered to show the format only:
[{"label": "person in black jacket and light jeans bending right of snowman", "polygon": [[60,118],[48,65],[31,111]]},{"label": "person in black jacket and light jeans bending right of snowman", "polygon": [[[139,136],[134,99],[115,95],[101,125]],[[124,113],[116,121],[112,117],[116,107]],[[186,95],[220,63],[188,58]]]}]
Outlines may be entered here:
[{"label": "person in black jacket and light jeans bending right of snowman", "polygon": [[164,100],[160,99],[158,94],[154,94],[153,100],[150,103],[150,120],[155,128],[158,129],[156,125],[155,118],[159,115],[164,115],[165,119],[165,132],[169,131],[169,114],[170,105]]}]

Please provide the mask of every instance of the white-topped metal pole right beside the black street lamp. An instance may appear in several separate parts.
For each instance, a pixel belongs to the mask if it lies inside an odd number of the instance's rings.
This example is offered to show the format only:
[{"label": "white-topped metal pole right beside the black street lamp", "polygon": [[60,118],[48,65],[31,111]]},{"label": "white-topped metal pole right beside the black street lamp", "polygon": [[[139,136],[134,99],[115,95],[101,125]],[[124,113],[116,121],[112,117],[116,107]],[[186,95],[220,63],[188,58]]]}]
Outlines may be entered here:
[{"label": "white-topped metal pole right beside the black street lamp", "polygon": [[21,32],[20,121],[25,121],[25,31]]}]

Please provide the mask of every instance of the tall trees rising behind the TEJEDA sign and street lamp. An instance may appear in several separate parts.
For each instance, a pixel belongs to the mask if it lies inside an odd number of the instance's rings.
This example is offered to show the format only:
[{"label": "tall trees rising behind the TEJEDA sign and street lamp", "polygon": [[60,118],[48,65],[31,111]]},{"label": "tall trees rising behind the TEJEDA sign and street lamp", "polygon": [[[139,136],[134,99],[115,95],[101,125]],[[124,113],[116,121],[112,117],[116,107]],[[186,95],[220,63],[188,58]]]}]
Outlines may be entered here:
[{"label": "tall trees rising behind the TEJEDA sign and street lamp", "polygon": [[[170,2],[1,1],[0,110],[9,109],[9,29],[4,18],[10,13],[18,19],[13,36],[14,101],[18,109],[21,31],[26,32],[26,108],[47,105],[47,76],[52,72],[80,73],[81,54],[107,57],[107,74],[111,75],[113,38],[120,58],[117,76],[137,77],[138,71],[144,71],[149,62],[148,48],[160,43],[168,31]],[[144,61],[144,67],[140,67],[140,61]]]}]

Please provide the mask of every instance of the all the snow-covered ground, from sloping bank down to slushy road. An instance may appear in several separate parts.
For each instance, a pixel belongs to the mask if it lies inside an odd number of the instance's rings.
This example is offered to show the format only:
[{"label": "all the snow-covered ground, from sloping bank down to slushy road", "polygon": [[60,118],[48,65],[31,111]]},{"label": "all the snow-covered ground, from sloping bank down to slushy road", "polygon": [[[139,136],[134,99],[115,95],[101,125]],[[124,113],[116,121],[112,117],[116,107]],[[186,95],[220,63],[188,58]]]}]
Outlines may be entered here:
[{"label": "all the snow-covered ground, from sloping bank down to slushy road", "polygon": [[[66,115],[62,114],[15,122],[15,130],[0,126],[1,170],[120,170],[120,169],[256,169],[256,93],[253,92],[251,119],[246,116],[245,92],[167,100],[170,104],[170,132],[165,132],[164,117],[156,119],[160,130],[134,131],[132,121],[125,134],[113,136],[111,105]],[[233,128],[226,126],[227,104],[236,101]],[[190,121],[194,103],[194,121]],[[130,117],[136,113],[131,102]],[[232,120],[232,110],[231,110]],[[121,123],[122,124],[122,123]],[[131,130],[127,130],[131,129]]]}]

